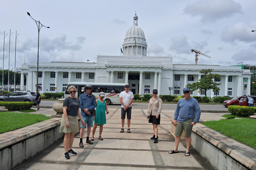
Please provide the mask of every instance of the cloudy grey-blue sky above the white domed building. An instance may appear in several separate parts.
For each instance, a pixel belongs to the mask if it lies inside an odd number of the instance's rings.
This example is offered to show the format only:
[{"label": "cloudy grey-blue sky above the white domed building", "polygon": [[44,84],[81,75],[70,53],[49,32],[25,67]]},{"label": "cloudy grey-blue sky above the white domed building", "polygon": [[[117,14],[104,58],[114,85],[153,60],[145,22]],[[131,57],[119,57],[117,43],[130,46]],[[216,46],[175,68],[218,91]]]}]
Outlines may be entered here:
[{"label": "cloudy grey-blue sky above the white domed building", "polygon": [[[97,55],[120,55],[127,30],[145,33],[149,56],[171,56],[173,64],[256,65],[255,0],[0,0],[0,67],[37,62],[96,62]],[[11,36],[10,36],[11,30]],[[4,35],[5,31],[5,35]],[[12,34],[13,33],[13,34]],[[9,41],[10,40],[10,41]],[[10,44],[10,53],[9,53]],[[148,53],[147,53],[148,55]]]}]

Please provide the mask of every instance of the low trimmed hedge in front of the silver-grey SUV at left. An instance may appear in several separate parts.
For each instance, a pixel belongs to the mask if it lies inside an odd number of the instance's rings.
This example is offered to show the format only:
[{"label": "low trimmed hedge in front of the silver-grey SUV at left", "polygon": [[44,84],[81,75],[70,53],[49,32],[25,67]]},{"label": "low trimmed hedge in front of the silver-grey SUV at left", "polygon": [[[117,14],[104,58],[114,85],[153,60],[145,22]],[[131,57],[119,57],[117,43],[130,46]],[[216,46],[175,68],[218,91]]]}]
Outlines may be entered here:
[{"label": "low trimmed hedge in front of the silver-grey SUV at left", "polygon": [[28,110],[33,107],[33,102],[0,102],[0,106],[6,107],[9,111]]}]

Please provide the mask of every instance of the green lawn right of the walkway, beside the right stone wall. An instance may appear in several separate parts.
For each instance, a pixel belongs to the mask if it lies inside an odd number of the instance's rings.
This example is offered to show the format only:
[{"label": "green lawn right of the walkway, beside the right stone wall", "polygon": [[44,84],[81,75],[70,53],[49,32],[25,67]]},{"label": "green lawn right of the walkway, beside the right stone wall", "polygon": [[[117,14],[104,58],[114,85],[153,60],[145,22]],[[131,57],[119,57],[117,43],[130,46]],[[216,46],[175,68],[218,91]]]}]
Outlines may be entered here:
[{"label": "green lawn right of the walkway, beside the right stone wall", "polygon": [[[224,117],[237,117],[224,115]],[[241,118],[241,117],[239,117]],[[209,128],[256,149],[256,120],[255,119],[221,119],[201,123]]]}]

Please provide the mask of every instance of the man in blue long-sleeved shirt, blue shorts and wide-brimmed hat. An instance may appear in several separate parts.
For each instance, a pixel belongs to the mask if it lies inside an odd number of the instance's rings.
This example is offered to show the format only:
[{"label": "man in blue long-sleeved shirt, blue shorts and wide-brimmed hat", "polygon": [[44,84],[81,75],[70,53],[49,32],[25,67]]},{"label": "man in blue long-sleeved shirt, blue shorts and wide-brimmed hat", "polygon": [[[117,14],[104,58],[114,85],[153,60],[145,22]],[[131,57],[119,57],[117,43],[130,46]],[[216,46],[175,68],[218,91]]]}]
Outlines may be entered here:
[{"label": "man in blue long-sleeved shirt, blue shorts and wide-brimmed hat", "polygon": [[80,125],[80,142],[79,146],[84,147],[83,144],[83,136],[84,136],[84,129],[87,126],[87,136],[86,136],[86,143],[93,144],[93,142],[89,139],[91,127],[93,127],[93,118],[94,118],[94,109],[96,107],[96,98],[92,94],[93,87],[90,84],[85,86],[85,93],[80,95],[80,108],[81,108],[81,115],[85,122],[85,125]]}]

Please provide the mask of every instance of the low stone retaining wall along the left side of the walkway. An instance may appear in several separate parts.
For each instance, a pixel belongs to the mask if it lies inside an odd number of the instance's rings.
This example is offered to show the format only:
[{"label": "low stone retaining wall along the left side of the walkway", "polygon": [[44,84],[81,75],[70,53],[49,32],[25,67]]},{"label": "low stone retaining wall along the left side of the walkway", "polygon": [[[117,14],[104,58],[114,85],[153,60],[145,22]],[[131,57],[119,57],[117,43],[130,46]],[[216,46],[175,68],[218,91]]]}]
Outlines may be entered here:
[{"label": "low stone retaining wall along the left side of the walkway", "polygon": [[[0,170],[10,170],[64,137],[61,118],[0,134]],[[80,120],[78,120],[80,125]]]}]

